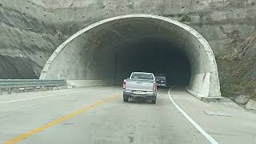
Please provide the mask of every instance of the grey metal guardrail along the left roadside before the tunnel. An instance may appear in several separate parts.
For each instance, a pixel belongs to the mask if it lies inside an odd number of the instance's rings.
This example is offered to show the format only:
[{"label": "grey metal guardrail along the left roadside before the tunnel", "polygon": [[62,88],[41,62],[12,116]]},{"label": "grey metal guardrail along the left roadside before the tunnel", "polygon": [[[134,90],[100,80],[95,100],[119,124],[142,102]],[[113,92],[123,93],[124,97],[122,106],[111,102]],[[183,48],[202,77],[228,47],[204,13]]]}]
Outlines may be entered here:
[{"label": "grey metal guardrail along the left roadside before the tunnel", "polygon": [[8,90],[8,94],[13,89],[19,93],[20,88],[24,88],[25,92],[30,87],[58,87],[66,86],[65,80],[39,80],[39,79],[0,79],[0,94],[3,90]]}]

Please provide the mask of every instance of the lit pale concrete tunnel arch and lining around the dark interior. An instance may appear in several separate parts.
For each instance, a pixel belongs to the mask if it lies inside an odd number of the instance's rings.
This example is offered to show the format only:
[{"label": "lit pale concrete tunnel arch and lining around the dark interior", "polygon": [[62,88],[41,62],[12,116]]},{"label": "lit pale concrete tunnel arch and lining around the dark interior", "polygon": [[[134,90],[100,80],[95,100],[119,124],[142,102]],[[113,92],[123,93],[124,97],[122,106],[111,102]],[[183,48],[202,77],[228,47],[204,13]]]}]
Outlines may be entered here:
[{"label": "lit pale concrete tunnel arch and lining around the dark interior", "polygon": [[[181,22],[150,14],[128,14],[108,18],[78,31],[61,46],[58,46],[46,62],[40,78],[103,79],[105,82],[111,83],[115,73],[114,52],[108,43],[119,42],[124,37],[130,37],[124,36],[120,31],[114,30],[113,27],[122,26],[123,23],[127,22],[131,22],[130,25],[133,25],[133,22],[141,22],[141,20],[147,23],[145,26],[148,26],[146,29],[149,30],[143,34],[154,33],[154,31],[150,31],[151,25],[154,26],[154,29],[156,26],[159,27],[159,34],[170,30],[166,37],[170,37],[170,39],[174,37],[174,42],[178,43],[182,51],[186,53],[191,66],[190,84],[187,86],[191,94],[198,97],[221,95],[214,54],[205,38]],[[110,32],[104,34],[107,30]],[[140,30],[136,32],[138,31]],[[96,58],[102,55],[102,58],[107,58],[108,61]],[[112,67],[106,69],[104,66]]]}]

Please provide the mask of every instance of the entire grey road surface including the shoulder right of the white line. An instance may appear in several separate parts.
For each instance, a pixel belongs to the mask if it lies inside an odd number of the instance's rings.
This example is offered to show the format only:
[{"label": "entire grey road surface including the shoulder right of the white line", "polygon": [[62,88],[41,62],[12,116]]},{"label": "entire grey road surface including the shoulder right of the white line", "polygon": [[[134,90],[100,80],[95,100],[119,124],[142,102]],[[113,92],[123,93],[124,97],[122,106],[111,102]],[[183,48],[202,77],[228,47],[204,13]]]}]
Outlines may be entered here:
[{"label": "entire grey road surface including the shoulder right of the white line", "polygon": [[[256,142],[255,114],[233,104],[201,102],[184,90],[172,90],[170,96],[217,142]],[[203,109],[222,109],[231,117],[209,116]],[[240,122],[241,117],[247,118]],[[170,101],[168,90],[158,90],[156,104],[138,100],[126,103],[122,88],[117,87],[3,95],[0,142],[210,143]]]}]

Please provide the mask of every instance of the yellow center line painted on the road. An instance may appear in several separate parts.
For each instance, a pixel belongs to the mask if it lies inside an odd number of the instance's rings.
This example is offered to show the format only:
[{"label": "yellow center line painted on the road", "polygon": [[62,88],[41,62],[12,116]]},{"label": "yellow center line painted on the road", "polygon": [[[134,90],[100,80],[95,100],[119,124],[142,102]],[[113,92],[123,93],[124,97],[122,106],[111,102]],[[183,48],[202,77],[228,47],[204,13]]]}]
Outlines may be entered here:
[{"label": "yellow center line painted on the road", "polygon": [[75,115],[81,114],[82,112],[85,112],[86,110],[90,110],[94,107],[101,106],[105,102],[110,102],[111,100],[114,100],[115,98],[118,98],[118,96],[119,95],[116,95],[116,96],[113,96],[113,97],[110,97],[110,98],[106,98],[106,99],[102,100],[101,102],[95,102],[95,103],[91,104],[90,106],[83,107],[80,110],[74,111],[73,113],[67,114],[67,115],[65,115],[61,118],[55,119],[51,122],[48,122],[45,125],[40,126],[40,127],[36,128],[34,130],[30,130],[29,132],[27,132],[25,134],[20,134],[20,135],[18,135],[18,137],[12,138],[9,141],[4,142],[4,144],[13,144],[15,142],[20,142],[23,139],[28,138],[33,134],[37,134],[38,132],[40,132],[42,130],[46,130],[47,128],[49,128],[51,126],[55,126],[58,123],[65,122],[66,120],[68,120],[70,118],[73,118]]}]

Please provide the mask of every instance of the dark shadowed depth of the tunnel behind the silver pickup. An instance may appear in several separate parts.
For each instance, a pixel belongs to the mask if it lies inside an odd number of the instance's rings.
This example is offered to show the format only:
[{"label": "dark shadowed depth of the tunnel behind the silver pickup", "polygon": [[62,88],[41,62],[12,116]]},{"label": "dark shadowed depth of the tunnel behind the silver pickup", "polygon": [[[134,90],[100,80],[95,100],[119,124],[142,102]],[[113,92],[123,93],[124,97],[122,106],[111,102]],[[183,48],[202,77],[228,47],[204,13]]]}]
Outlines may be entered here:
[{"label": "dark shadowed depth of the tunnel behind the silver pickup", "polygon": [[185,52],[164,38],[136,38],[114,46],[115,85],[133,71],[166,74],[169,85],[187,86],[190,62]]}]

